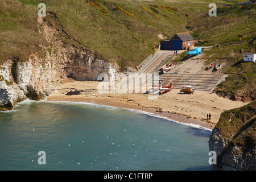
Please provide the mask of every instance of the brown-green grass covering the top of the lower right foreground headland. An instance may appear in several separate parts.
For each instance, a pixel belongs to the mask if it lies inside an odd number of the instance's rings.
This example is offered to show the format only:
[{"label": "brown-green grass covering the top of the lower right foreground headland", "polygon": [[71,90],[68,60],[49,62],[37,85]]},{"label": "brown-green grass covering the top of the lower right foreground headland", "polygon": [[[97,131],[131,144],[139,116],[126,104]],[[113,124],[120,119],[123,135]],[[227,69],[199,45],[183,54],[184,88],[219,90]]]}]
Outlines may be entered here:
[{"label": "brown-green grass covering the top of the lower right foreground headland", "polygon": [[[243,107],[225,111],[216,125],[221,138],[229,141],[221,155],[218,156],[218,164],[221,164],[222,156],[226,152],[245,156],[246,154],[255,155],[256,146],[256,101]],[[234,150],[230,150],[233,147]],[[252,157],[253,158],[253,157]],[[247,160],[245,158],[245,160]],[[255,168],[255,166],[254,166]]]}]

